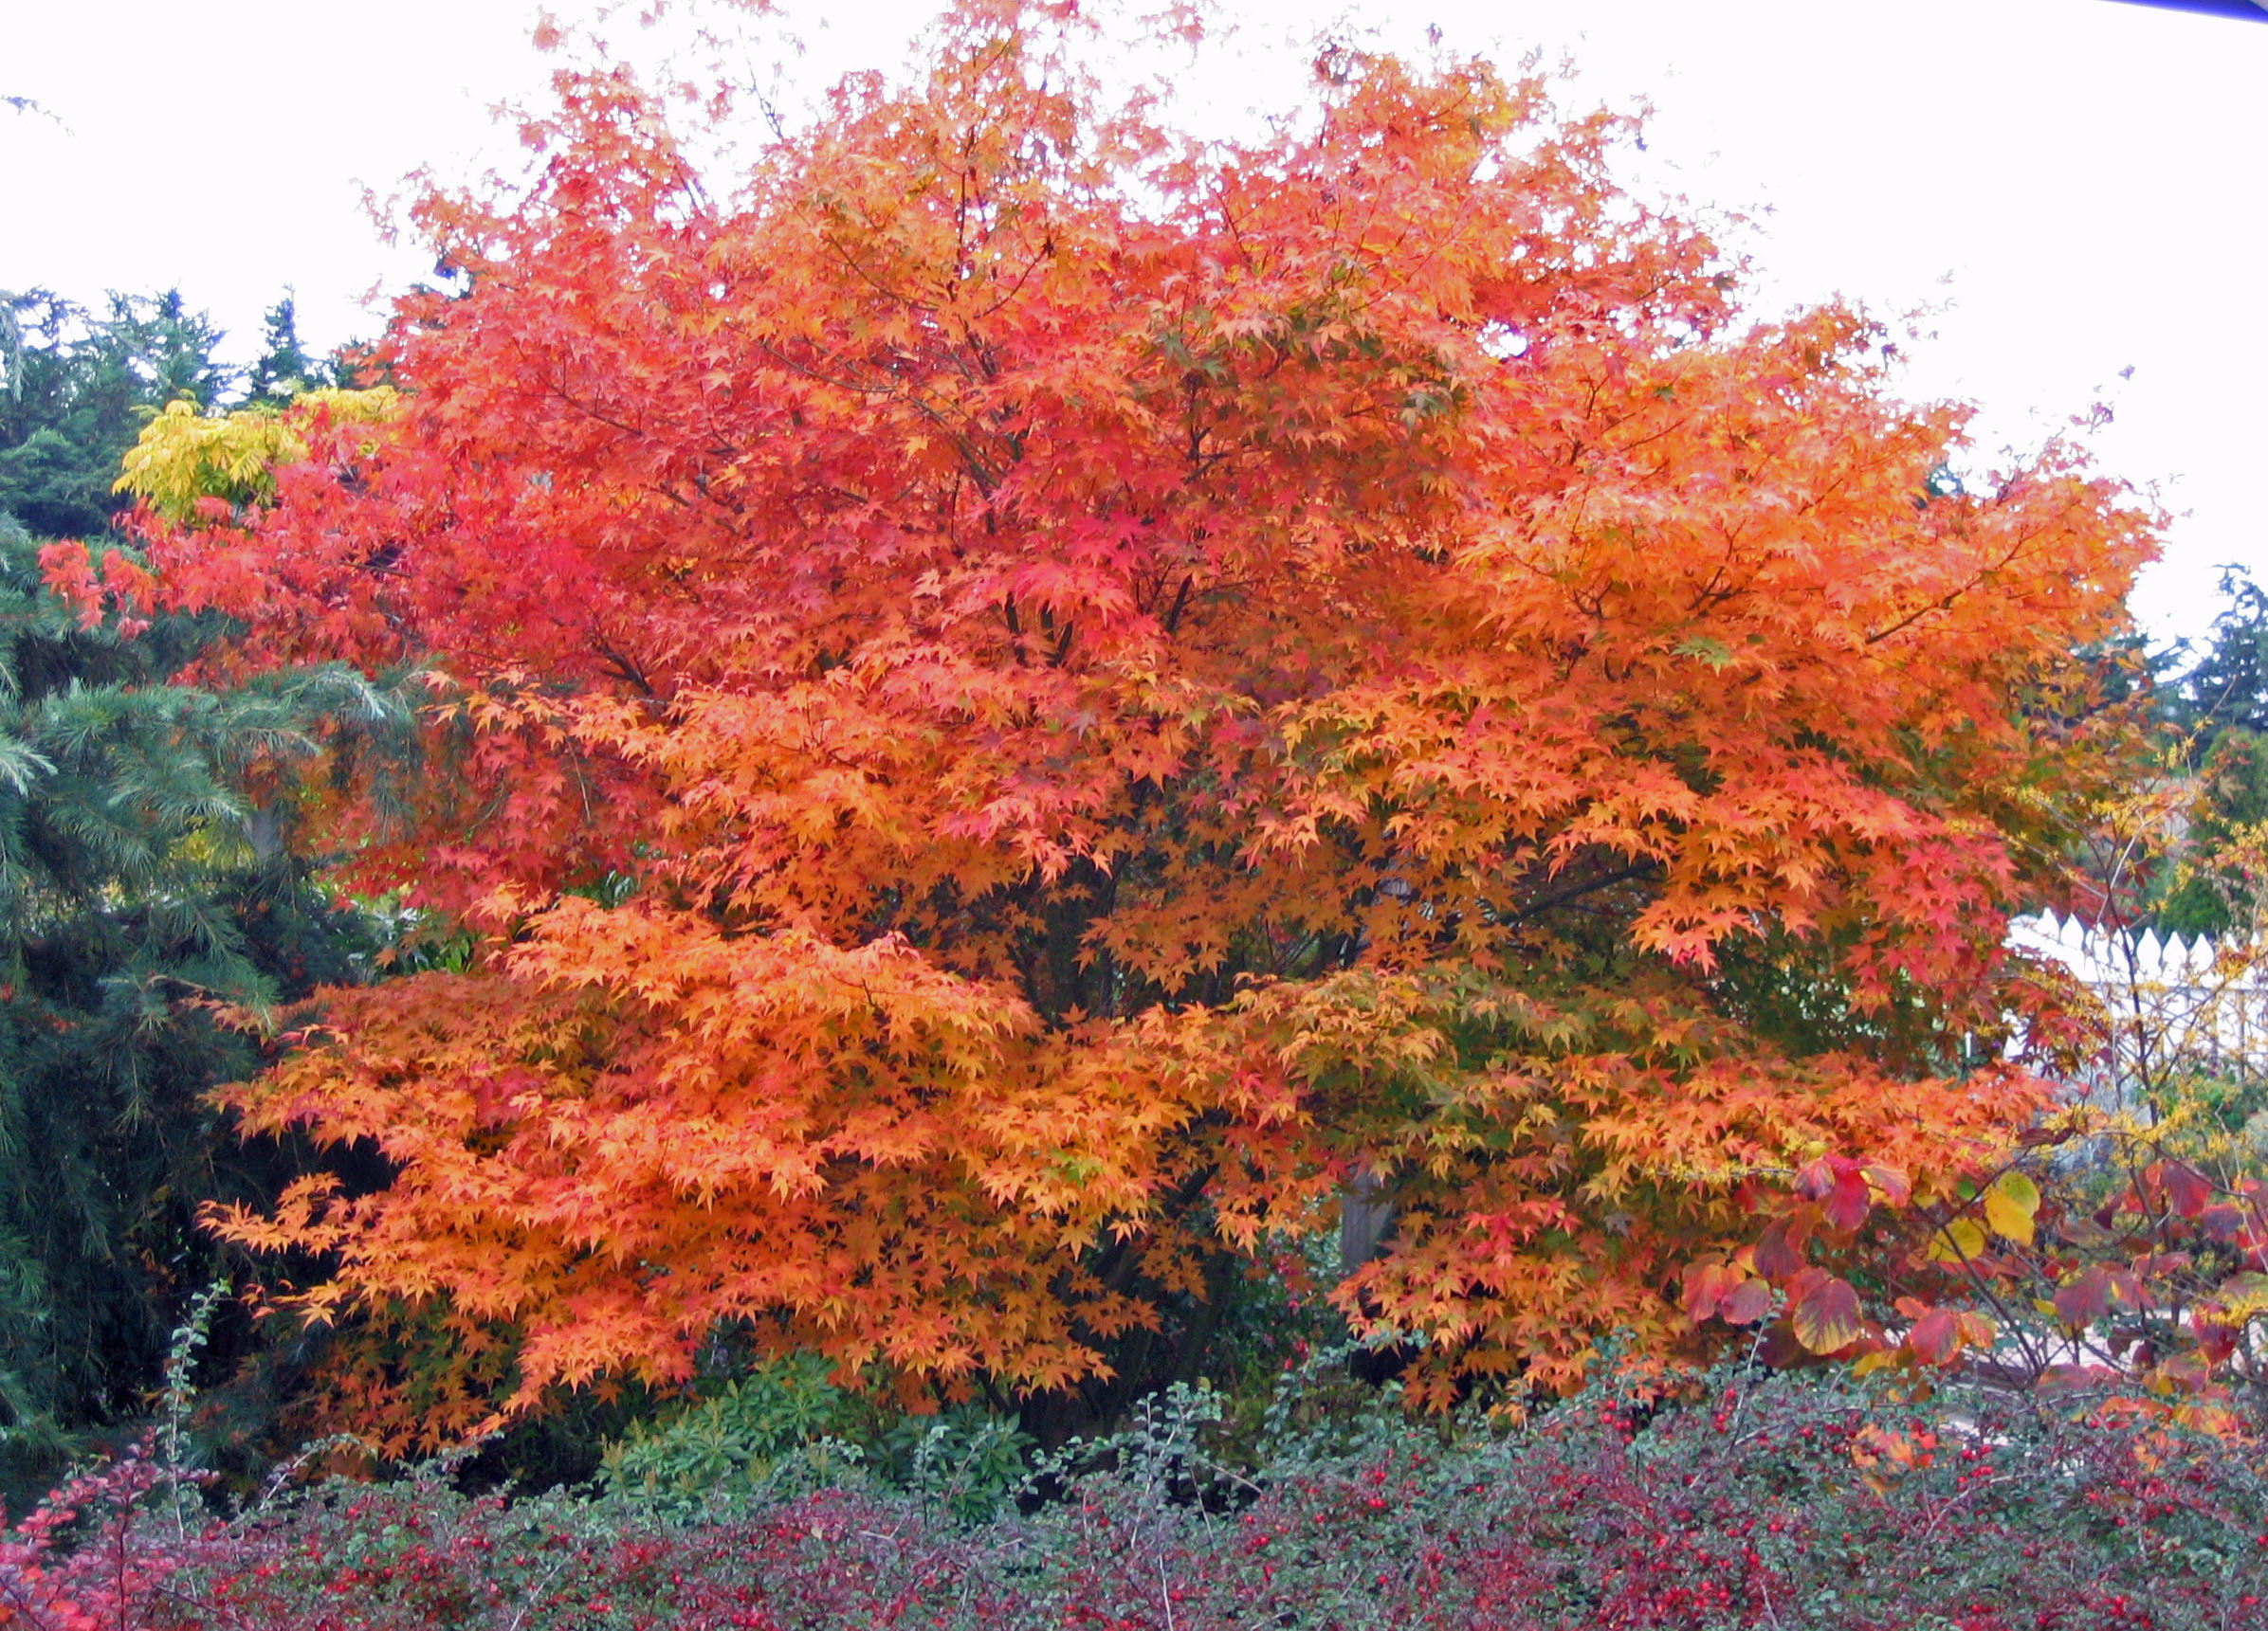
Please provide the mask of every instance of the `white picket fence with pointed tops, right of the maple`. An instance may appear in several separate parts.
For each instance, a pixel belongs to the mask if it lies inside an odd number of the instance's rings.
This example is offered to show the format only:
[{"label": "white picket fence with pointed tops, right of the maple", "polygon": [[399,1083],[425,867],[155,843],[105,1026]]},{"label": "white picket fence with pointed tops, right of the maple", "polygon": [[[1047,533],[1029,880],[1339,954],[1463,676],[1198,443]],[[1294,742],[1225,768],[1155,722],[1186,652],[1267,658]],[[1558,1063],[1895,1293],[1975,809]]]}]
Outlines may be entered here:
[{"label": "white picket fence with pointed tops, right of the maple", "polygon": [[2268,957],[2207,937],[2127,935],[2053,912],[2009,926],[2009,946],[2064,964],[2102,1003],[2093,1091],[2164,1080],[2180,1064],[2268,1073]]}]

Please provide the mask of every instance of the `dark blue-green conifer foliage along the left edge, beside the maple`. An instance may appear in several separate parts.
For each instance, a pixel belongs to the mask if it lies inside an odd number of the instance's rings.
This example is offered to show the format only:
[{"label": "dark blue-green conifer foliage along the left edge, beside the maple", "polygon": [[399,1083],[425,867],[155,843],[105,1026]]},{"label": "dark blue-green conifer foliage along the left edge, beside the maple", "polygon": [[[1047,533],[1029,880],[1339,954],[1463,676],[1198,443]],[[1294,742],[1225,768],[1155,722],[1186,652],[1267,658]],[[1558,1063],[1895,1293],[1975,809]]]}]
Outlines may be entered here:
[{"label": "dark blue-green conifer foliage along the left edge, beside the maple", "polygon": [[[170,295],[113,299],[104,320],[48,295],[5,309],[0,1484],[143,1411],[179,1304],[222,1268],[197,1205],[281,1182],[288,1152],[247,1150],[202,1096],[259,1066],[229,1012],[372,966],[374,916],[293,851],[290,787],[324,735],[404,719],[336,667],[231,692],[179,683],[209,622],[88,626],[45,588],[41,535],[100,553],[141,422],[184,395],[211,402],[229,370],[220,336]],[[279,313],[295,347],[288,302]]]}]

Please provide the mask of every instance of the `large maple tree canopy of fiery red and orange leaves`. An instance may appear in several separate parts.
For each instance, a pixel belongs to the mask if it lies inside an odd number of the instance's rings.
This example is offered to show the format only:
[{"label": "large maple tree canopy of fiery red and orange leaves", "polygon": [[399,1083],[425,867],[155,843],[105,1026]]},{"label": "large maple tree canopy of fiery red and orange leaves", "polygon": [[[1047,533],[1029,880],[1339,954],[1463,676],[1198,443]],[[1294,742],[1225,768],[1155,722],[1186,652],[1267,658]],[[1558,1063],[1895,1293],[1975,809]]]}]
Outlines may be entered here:
[{"label": "large maple tree canopy of fiery red and orange leaves", "polygon": [[1962,411],[1742,315],[1540,82],[1331,50],[1200,145],[1082,39],[964,5],[730,181],[560,75],[526,188],[420,206],[469,293],[390,417],[145,508],[227,662],[429,667],[424,776],[315,814],[490,937],[227,1096],[390,1186],[220,1218],[454,1334],[429,1431],[719,1325],[1059,1388],[1359,1177],[1420,1391],[1563,1384],[2034,1102],[1962,1059],[2150,519],[1944,479]]}]

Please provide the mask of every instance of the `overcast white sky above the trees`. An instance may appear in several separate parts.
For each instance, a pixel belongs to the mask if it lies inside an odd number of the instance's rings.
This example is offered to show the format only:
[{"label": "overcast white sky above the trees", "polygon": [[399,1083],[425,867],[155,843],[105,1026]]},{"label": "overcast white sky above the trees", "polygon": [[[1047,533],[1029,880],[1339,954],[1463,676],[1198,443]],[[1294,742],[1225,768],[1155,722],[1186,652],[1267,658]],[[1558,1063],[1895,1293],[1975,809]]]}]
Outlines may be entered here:
[{"label": "overcast white sky above the trees", "polygon": [[[574,20],[592,0],[553,0]],[[896,66],[925,0],[789,5],[819,84]],[[1325,9],[1225,7],[1191,118],[1288,95]],[[363,188],[510,161],[490,107],[549,61],[528,0],[0,0],[0,288],[179,286],[249,345],[295,290],[318,345],[372,333],[388,250]],[[2136,594],[2200,633],[2218,563],[2268,574],[2268,25],[2109,0],[1356,0],[1388,43],[1438,25],[1569,54],[1581,100],[1656,107],[1644,186],[1755,218],[1753,304],[1930,309],[1907,392],[1978,402],[1989,456],[2096,399],[2100,460],[2180,513]],[[635,29],[624,27],[624,34]],[[2121,370],[2134,374],[2121,381]]]}]

